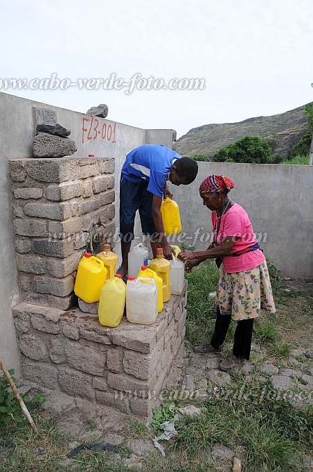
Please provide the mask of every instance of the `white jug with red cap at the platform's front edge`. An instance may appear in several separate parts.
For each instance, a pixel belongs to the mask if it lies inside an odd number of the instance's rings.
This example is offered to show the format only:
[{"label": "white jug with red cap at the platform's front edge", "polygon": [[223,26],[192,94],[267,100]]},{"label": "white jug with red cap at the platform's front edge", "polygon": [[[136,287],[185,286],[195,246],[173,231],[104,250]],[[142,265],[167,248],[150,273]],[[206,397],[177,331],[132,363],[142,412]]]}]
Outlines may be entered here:
[{"label": "white jug with red cap at the platform's front edge", "polygon": [[126,285],[126,317],[130,323],[151,325],[158,316],[158,294],[153,278],[129,276]]}]

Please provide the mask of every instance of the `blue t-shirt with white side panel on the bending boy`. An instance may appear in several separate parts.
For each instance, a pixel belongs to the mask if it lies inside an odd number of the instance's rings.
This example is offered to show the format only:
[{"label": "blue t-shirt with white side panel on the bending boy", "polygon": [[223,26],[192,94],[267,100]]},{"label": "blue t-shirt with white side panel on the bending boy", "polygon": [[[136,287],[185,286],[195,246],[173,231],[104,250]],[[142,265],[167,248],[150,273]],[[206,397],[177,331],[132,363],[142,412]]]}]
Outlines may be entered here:
[{"label": "blue t-shirt with white side panel on the bending boy", "polygon": [[144,144],[126,156],[122,176],[134,183],[148,182],[147,190],[156,196],[163,196],[168,174],[173,161],[181,156],[162,144]]}]

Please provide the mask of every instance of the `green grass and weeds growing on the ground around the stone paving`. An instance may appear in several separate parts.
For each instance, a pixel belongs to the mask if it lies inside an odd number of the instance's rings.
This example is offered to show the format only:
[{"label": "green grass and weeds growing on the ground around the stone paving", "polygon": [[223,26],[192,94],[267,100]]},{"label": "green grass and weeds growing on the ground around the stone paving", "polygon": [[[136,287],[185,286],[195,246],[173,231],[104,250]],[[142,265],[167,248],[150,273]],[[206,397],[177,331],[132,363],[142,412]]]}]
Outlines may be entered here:
[{"label": "green grass and weeds growing on the ground around the stone paving", "polygon": [[[312,345],[312,289],[303,292],[285,291],[276,268],[269,262],[271,282],[276,301],[276,316],[262,312],[253,328],[253,369],[249,377],[244,371],[230,373],[231,384],[225,387],[208,386],[204,397],[184,398],[173,395],[168,403],[176,406],[193,404],[202,413],[186,416],[175,423],[179,433],[166,444],[166,458],[158,450],[143,460],[142,472],[217,472],[231,467],[231,462],[213,460],[210,451],[215,443],[231,450],[241,449],[243,472],[308,472],[305,457],[312,458],[313,406],[298,406],[292,396],[276,391],[270,377],[260,374],[260,366],[271,362],[285,369],[292,348],[311,348]],[[204,262],[188,275],[188,317],[186,337],[190,345],[208,342],[214,329],[215,298],[209,296],[217,287],[218,271],[214,262]],[[231,327],[226,339],[226,351],[231,350]],[[221,355],[222,358],[224,356]],[[306,371],[310,361],[298,355],[295,369]],[[201,379],[198,379],[201,380]],[[196,382],[197,383],[197,382]],[[176,388],[180,388],[178,385]],[[215,386],[216,387],[216,386]],[[293,391],[298,393],[298,381]],[[169,392],[170,393],[170,392]],[[301,395],[309,395],[302,391]],[[116,453],[81,450],[73,460],[62,466],[71,450],[73,439],[57,430],[57,417],[50,418],[39,405],[28,404],[39,427],[35,434],[26,420],[22,423],[0,425],[0,471],[55,472],[55,471],[111,471],[137,472],[136,466],[123,462],[132,453],[129,439],[151,441],[154,430],[144,421],[129,417],[128,425],[120,431],[125,437],[122,457]],[[87,429],[93,430],[91,419]],[[103,441],[98,439],[96,442]],[[37,451],[46,449],[44,455]],[[61,462],[61,464],[60,464]]]}]

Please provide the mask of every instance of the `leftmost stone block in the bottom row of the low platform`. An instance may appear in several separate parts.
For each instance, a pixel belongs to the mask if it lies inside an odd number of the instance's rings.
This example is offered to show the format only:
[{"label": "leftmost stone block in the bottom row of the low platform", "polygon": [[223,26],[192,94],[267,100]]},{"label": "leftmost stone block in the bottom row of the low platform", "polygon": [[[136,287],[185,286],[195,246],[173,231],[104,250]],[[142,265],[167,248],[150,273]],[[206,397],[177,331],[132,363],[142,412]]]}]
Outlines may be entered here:
[{"label": "leftmost stone block in the bottom row of the low platform", "polygon": [[58,390],[57,368],[44,362],[32,362],[21,357],[21,375],[29,382],[35,382],[47,389]]}]

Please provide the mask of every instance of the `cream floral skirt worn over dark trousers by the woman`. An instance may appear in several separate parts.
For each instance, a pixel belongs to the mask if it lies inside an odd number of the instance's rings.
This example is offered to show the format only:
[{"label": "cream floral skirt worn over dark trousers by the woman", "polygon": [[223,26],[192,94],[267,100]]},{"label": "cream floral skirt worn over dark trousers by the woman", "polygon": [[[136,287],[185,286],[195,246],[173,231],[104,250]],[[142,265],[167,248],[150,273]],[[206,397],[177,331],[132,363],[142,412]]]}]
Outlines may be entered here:
[{"label": "cream floral skirt worn over dark trousers by the woman", "polygon": [[221,266],[216,304],[235,321],[258,317],[261,307],[275,313],[266,261],[244,272],[228,273]]}]

